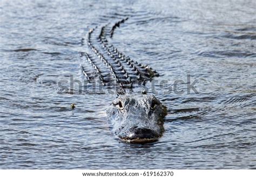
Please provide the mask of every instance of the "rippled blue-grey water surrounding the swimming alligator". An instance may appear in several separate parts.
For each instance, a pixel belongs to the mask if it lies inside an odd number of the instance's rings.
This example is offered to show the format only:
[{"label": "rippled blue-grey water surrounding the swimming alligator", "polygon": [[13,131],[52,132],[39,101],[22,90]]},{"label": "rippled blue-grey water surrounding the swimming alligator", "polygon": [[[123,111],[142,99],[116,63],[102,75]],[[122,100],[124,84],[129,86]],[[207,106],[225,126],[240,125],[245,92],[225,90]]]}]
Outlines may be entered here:
[{"label": "rippled blue-grey water surrounding the swimming alligator", "polygon": [[[255,6],[1,1],[0,168],[255,169]],[[124,17],[112,44],[165,81],[155,95],[169,114],[164,136],[152,144],[114,137],[104,111],[115,95],[76,87],[58,93],[58,81],[84,80],[79,52],[90,52],[81,40],[87,32]],[[198,93],[164,93],[187,75]]]}]

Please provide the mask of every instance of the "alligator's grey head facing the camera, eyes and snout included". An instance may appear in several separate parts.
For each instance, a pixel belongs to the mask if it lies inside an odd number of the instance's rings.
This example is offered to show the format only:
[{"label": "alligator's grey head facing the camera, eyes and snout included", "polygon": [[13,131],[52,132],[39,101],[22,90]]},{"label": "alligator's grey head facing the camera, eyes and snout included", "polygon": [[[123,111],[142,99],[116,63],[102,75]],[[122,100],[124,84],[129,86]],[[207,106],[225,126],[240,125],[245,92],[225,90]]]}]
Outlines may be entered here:
[{"label": "alligator's grey head facing the camera, eyes and snout included", "polygon": [[153,95],[123,95],[106,111],[113,131],[129,143],[149,143],[164,132],[166,107]]}]

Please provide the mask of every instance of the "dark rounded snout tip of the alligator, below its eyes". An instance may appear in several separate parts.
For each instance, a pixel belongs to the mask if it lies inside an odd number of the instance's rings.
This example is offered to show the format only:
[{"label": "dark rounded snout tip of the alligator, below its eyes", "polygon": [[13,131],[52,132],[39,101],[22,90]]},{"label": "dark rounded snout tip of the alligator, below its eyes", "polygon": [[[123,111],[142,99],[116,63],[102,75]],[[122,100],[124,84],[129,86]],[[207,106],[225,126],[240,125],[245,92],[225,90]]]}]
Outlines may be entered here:
[{"label": "dark rounded snout tip of the alligator, below its eyes", "polygon": [[147,143],[156,141],[160,137],[156,131],[146,128],[132,128],[126,135],[119,136],[123,141],[127,141],[130,143]]}]

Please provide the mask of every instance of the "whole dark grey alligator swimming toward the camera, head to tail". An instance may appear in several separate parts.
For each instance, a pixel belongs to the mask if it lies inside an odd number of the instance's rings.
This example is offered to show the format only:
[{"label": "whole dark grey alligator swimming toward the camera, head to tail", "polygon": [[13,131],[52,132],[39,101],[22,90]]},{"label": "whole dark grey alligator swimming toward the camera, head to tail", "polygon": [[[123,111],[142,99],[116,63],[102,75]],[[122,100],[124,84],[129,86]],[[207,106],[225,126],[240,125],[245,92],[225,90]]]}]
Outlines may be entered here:
[{"label": "whole dark grey alligator swimming toward the camera, head to tail", "polygon": [[[127,143],[151,143],[164,132],[166,106],[152,94],[128,94],[134,84],[145,85],[159,74],[148,65],[142,65],[118,51],[110,44],[114,30],[129,18],[113,25],[107,23],[91,29],[87,34],[87,45],[92,53],[80,53],[90,65],[81,65],[82,73],[89,82],[96,79],[103,86],[115,86],[117,98],[106,110],[106,117],[114,134]],[[90,68],[88,68],[90,66]]]}]

